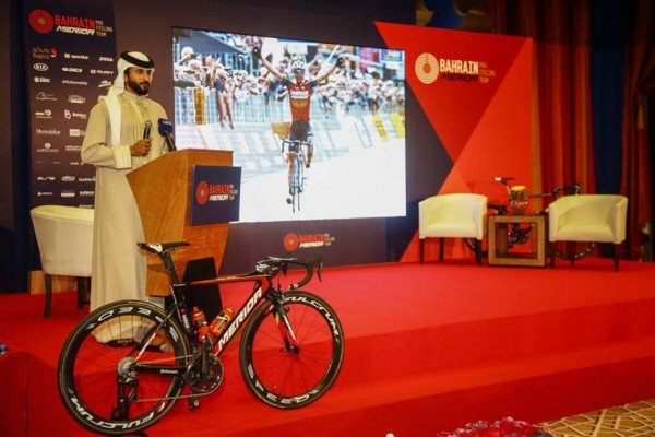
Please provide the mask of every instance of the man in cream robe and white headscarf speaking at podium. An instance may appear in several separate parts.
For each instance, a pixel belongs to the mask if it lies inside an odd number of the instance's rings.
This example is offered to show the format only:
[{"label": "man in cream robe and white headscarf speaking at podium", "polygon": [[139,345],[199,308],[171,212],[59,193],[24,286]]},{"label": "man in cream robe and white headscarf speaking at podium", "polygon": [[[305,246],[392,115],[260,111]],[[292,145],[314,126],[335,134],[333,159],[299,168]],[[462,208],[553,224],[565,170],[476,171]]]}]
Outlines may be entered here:
[{"label": "man in cream robe and white headscarf speaking at podium", "polygon": [[154,62],[145,54],[127,51],[118,60],[118,76],[88,116],[82,161],[96,166],[91,310],[119,299],[146,300],[143,226],[126,175],[165,153],[156,126],[166,111],[150,99]]}]

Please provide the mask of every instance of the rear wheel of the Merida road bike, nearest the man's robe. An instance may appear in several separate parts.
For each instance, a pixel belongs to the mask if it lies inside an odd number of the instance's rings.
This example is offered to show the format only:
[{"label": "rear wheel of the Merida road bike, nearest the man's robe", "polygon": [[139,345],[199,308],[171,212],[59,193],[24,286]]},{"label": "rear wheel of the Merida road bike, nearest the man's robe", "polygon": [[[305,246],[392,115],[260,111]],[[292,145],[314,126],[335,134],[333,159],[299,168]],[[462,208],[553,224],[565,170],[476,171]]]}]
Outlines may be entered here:
[{"label": "rear wheel of the Merida road bike, nearest the man's robe", "polygon": [[152,304],[122,300],[92,311],[75,327],[63,344],[57,382],[78,423],[120,436],[136,434],[170,411],[183,388],[189,345],[176,320],[156,330],[165,318]]}]

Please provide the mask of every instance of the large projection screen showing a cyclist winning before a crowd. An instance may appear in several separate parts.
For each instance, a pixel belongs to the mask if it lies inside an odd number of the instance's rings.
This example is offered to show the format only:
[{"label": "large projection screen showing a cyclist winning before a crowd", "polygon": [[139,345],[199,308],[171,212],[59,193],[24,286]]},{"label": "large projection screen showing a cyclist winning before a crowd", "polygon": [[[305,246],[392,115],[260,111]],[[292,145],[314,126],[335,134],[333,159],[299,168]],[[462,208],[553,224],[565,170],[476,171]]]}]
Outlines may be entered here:
[{"label": "large projection screen showing a cyclist winning before a crowd", "polygon": [[[172,50],[176,145],[234,152],[240,222],[405,215],[404,51],[178,27]],[[283,140],[306,118],[298,184]]]}]

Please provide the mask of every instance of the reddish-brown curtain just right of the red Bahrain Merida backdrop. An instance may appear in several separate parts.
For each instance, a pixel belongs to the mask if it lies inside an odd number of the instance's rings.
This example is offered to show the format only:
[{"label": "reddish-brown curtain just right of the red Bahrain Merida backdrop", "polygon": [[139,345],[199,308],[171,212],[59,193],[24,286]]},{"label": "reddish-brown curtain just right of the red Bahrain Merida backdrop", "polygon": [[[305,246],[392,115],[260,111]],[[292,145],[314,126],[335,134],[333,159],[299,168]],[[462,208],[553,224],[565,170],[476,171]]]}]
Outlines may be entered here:
[{"label": "reddish-brown curtain just right of the red Bahrain Merida backdrop", "polygon": [[588,0],[497,0],[495,32],[535,40],[533,190],[594,192]]}]

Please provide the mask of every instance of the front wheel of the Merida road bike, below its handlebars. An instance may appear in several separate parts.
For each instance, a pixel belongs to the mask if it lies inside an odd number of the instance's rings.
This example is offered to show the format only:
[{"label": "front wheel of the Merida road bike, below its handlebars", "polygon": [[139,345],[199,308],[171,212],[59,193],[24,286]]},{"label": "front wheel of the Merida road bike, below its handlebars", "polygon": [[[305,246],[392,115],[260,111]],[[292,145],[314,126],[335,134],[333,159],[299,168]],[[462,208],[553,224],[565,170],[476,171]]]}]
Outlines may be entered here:
[{"label": "front wheel of the Merida road bike, below its handlebars", "polygon": [[285,294],[289,330],[272,305],[252,315],[241,339],[241,375],[262,402],[297,409],[314,402],[335,381],[344,358],[344,333],[334,309],[307,292]]}]

